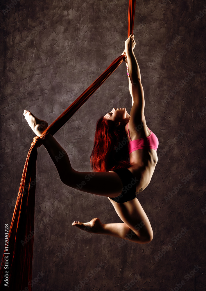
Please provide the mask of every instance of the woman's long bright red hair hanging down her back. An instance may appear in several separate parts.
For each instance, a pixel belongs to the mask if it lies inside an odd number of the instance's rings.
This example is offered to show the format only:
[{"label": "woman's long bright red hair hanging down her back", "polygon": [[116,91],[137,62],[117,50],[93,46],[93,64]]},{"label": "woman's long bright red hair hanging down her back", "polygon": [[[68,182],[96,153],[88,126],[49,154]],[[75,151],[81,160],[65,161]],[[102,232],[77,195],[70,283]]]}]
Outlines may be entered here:
[{"label": "woman's long bright red hair hanging down her back", "polygon": [[108,172],[117,168],[129,168],[127,140],[124,125],[117,127],[114,121],[99,118],[90,156],[92,171]]}]

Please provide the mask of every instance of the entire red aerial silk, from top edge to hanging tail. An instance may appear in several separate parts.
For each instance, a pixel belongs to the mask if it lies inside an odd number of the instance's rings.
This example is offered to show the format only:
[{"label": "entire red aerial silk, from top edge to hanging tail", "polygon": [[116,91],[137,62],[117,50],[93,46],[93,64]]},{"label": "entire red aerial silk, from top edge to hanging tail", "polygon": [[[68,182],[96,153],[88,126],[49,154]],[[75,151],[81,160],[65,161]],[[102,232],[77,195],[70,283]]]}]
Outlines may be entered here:
[{"label": "entire red aerial silk, from top edge to hanging tail", "polygon": [[[133,33],[136,0],[129,0],[128,37]],[[5,224],[5,250],[0,269],[0,290],[32,291],[32,258],[34,242],[34,208],[37,148],[48,134],[55,134],[69,118],[87,101],[101,84],[122,63],[119,56],[47,129],[36,136],[28,151],[22,180],[9,232]],[[7,228],[6,228],[7,227]]]}]

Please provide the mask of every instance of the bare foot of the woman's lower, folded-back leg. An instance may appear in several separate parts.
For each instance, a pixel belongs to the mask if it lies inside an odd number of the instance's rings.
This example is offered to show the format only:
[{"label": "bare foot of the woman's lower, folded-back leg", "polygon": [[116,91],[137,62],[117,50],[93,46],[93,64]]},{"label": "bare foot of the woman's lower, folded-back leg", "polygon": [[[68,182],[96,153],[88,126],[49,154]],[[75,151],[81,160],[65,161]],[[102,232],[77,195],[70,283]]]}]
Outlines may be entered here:
[{"label": "bare foot of the woman's lower, folded-back leg", "polygon": [[88,233],[103,233],[103,225],[99,218],[93,218],[89,222],[74,221],[72,225],[75,225],[81,230],[85,230]]}]

